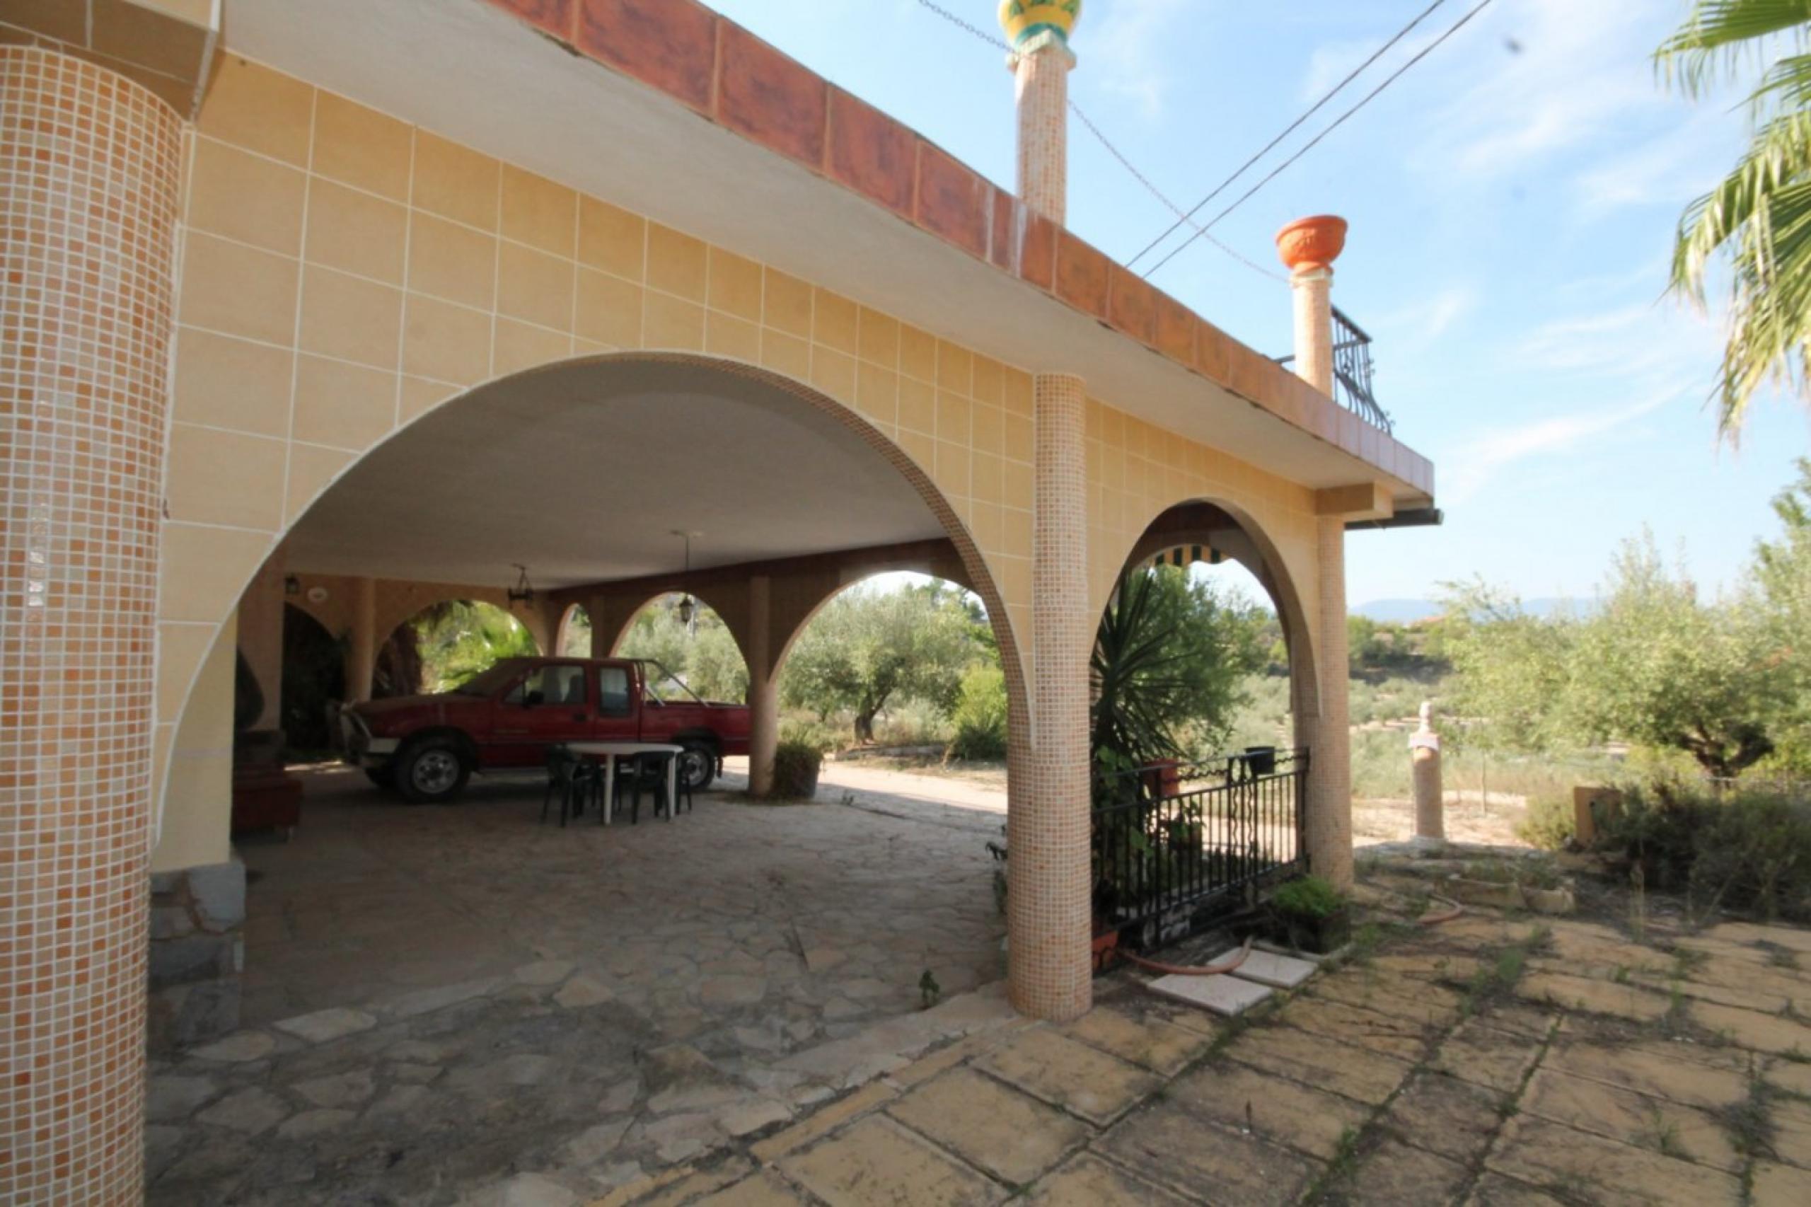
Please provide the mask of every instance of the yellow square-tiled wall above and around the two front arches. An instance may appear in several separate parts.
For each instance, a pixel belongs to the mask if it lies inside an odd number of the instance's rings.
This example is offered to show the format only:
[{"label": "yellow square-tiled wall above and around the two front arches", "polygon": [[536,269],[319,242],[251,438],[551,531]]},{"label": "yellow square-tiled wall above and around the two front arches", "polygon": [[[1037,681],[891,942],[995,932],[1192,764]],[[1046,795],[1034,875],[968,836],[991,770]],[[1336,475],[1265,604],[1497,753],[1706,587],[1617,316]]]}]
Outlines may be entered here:
[{"label": "yellow square-tiled wall above and around the two front arches", "polygon": [[[587,353],[726,357],[848,406],[949,502],[1029,660],[1027,372],[263,65],[216,76],[188,140],[165,765],[217,627],[339,473],[474,384]],[[1190,498],[1264,524],[1311,598],[1302,489],[1099,402],[1088,453],[1097,605],[1145,524]]]}]

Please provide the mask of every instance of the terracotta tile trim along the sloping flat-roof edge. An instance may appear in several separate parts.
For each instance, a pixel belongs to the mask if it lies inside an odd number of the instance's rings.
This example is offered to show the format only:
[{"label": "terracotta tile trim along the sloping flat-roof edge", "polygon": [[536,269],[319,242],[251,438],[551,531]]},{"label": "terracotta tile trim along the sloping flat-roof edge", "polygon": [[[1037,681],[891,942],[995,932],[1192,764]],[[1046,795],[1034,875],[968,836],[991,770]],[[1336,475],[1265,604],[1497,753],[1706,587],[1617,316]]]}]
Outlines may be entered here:
[{"label": "terracotta tile trim along the sloping flat-roof edge", "polygon": [[[485,0],[1416,489],[1433,464],[697,0]],[[1365,428],[1364,437],[1356,428]]]}]

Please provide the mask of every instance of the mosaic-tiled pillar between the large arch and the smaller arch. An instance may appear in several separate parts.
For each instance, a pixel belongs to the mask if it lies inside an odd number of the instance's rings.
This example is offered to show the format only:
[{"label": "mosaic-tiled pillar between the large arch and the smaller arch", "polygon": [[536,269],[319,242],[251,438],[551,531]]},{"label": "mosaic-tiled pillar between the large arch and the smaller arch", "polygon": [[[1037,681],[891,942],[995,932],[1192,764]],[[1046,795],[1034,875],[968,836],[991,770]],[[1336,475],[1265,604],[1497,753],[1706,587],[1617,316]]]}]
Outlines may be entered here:
[{"label": "mosaic-tiled pillar between the large arch and the smaller arch", "polygon": [[1074,1019],[1092,1002],[1087,390],[1045,373],[1034,391],[1032,716],[1007,812],[1007,975],[1020,1011]]}]

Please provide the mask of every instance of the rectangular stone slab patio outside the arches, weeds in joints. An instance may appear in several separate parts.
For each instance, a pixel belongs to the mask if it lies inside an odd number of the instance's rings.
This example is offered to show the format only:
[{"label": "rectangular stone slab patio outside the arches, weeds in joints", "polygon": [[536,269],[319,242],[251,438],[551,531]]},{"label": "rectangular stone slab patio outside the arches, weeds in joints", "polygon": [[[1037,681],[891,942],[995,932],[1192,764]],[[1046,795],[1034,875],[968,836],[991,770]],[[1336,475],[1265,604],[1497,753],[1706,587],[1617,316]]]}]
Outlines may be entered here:
[{"label": "rectangular stone slab patio outside the arches, weeds in joints", "polygon": [[1811,932],[1418,928],[1371,895],[1371,944],[1242,1024],[1114,975],[1076,1024],[973,1035],[599,1202],[1811,1203]]}]

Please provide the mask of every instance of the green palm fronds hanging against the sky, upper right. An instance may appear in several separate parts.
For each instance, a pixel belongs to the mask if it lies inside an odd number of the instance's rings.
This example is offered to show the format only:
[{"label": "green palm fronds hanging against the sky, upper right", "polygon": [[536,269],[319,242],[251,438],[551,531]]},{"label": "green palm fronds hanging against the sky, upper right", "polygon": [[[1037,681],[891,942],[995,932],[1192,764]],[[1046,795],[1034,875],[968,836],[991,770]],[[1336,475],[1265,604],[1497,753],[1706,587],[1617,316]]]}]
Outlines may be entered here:
[{"label": "green palm fronds hanging against the sky, upper right", "polygon": [[[1775,38],[1806,47],[1811,0],[1697,0],[1655,51],[1664,78],[1702,96]],[[1748,98],[1753,134],[1735,169],[1686,207],[1672,290],[1704,304],[1704,274],[1730,263],[1730,335],[1717,382],[1717,428],[1731,444],[1768,382],[1811,399],[1811,54],[1782,54]]]}]

